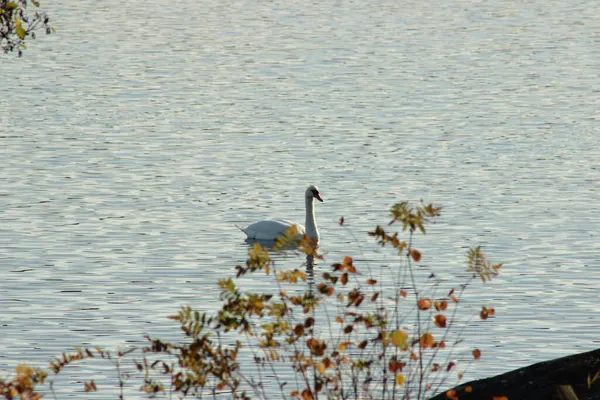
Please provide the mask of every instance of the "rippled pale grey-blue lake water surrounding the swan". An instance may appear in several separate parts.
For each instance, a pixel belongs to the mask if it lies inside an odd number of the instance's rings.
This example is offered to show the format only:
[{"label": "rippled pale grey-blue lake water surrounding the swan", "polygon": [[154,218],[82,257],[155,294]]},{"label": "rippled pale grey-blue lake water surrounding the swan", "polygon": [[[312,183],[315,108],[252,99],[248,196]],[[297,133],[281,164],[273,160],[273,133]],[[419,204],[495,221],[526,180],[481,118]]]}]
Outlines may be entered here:
[{"label": "rippled pale grey-blue lake water surrounding the swan", "polygon": [[600,3],[46,6],[58,33],[0,57],[2,375],[177,338],[166,316],[216,309],[244,260],[234,224],[303,221],[308,183],[323,268],[358,253],[339,217],[366,238],[421,198],[445,210],[424,265],[504,262],[470,292],[498,316],[467,331],[466,379],[598,347]]}]

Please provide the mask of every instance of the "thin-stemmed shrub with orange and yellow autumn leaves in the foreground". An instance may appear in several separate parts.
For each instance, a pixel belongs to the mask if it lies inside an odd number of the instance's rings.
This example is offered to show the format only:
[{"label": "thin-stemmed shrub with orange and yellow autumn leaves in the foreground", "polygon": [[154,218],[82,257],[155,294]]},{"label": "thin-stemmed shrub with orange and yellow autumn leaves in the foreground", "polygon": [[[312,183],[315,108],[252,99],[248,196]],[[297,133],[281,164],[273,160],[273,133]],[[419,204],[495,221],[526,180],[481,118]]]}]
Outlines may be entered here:
[{"label": "thin-stemmed shrub with orange and yellow autumn leaves in the foreground", "polygon": [[[423,254],[415,245],[417,235],[426,233],[440,211],[433,205],[398,203],[388,227],[369,232],[397,255],[394,265],[381,267],[385,273],[349,255],[317,273],[316,264],[324,263],[317,244],[308,238],[292,243],[295,232],[270,249],[256,243],[235,277],[219,281],[222,306],[216,314],[186,306],[170,317],[185,335],[181,342],[147,337],[146,346],[112,356],[101,349],[78,349],[53,360],[48,373],[101,357],[117,369],[132,363],[140,390],[151,397],[426,399],[456,384],[481,357],[480,350],[462,343],[464,318],[458,310],[472,281],[485,283],[500,268],[477,247],[467,253],[469,277],[454,288],[444,289],[434,273],[418,276],[416,264]],[[399,226],[400,232],[389,232],[389,226]],[[279,269],[272,252],[292,244],[306,264]],[[272,285],[264,293],[242,290],[238,278],[251,274],[266,275]],[[478,310],[481,319],[493,315],[491,307]],[[131,375],[119,370],[121,398],[130,381]],[[41,381],[23,387],[35,383]],[[93,380],[85,390],[96,390]],[[456,396],[448,391],[447,397]]]}]

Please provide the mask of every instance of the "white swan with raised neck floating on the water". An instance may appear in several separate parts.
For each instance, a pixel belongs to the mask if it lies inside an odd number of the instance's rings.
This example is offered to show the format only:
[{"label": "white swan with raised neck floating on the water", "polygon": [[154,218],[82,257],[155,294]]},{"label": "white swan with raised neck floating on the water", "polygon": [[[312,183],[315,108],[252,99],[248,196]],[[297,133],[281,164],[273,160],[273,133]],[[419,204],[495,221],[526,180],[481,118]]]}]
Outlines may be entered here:
[{"label": "white swan with raised neck floating on the water", "polygon": [[288,229],[295,227],[298,231],[298,238],[301,238],[306,233],[309,238],[319,240],[319,230],[317,229],[317,221],[315,221],[314,199],[321,202],[323,201],[319,194],[319,188],[310,185],[304,193],[304,201],[306,204],[306,229],[297,222],[286,221],[284,219],[258,221],[240,229],[248,236],[248,239],[275,240],[283,235]]}]

